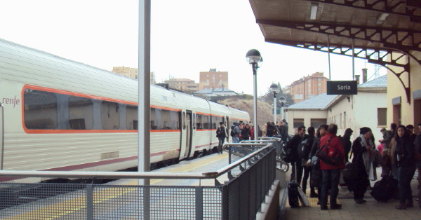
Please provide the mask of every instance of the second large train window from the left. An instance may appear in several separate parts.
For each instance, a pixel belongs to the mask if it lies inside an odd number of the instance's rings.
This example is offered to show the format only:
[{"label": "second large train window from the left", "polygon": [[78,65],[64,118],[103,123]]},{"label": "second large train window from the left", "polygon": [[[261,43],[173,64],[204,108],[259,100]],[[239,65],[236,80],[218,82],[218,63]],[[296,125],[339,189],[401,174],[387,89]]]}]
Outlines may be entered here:
[{"label": "second large train window from the left", "polygon": [[93,128],[93,103],[91,99],[69,97],[69,125],[74,130]]}]

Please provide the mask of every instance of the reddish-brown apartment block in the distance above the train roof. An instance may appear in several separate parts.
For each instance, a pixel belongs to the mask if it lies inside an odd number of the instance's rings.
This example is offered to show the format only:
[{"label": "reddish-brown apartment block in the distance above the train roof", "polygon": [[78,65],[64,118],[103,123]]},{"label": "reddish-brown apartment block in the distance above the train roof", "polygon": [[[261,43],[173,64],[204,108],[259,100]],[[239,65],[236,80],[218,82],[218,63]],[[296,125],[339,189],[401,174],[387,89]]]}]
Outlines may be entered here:
[{"label": "reddish-brown apartment block in the distance above the train roof", "polygon": [[216,71],[216,69],[201,71],[199,76],[199,90],[207,88],[228,88],[228,72]]}]

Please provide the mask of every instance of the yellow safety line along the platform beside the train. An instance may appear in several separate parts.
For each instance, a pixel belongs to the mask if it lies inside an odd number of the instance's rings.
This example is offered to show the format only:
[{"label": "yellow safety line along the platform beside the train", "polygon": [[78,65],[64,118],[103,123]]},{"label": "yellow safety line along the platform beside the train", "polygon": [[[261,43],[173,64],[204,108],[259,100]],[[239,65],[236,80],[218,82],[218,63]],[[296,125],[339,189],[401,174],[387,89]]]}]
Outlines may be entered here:
[{"label": "yellow safety line along the platform beside the train", "polygon": [[[200,161],[195,161],[194,163],[191,164],[186,164],[187,166],[184,166],[184,168],[182,167],[175,167],[172,169],[167,170],[166,172],[188,172],[191,170],[196,169],[197,167],[203,167],[205,165],[208,165],[208,163],[213,163],[216,162],[218,160],[222,160],[224,158],[227,158],[228,153],[222,153],[221,155],[218,156],[214,156],[211,158],[207,158],[204,160],[200,160]],[[162,181],[163,179],[155,179],[154,181],[151,182],[151,184],[156,184],[156,182]],[[135,181],[137,183],[137,180]],[[130,184],[131,182],[129,182]],[[128,184],[125,184],[128,185]],[[134,185],[134,184],[133,184]],[[137,184],[135,184],[137,185]],[[115,193],[116,189],[118,189],[119,193]],[[93,198],[101,198],[101,199],[97,199],[94,200],[94,204],[96,203],[100,203],[100,202],[104,202],[105,200],[110,200],[112,198],[116,198],[120,195],[123,195],[125,193],[128,193],[130,191],[135,191],[137,188],[107,188],[101,191],[98,191],[96,193],[93,193]],[[107,192],[112,192],[112,193],[107,193]],[[54,216],[48,216],[48,217],[44,217],[43,219],[55,219],[58,218],[60,216],[64,216],[65,214],[70,214],[72,212],[76,212],[79,211],[80,209],[84,209],[86,208],[86,196],[80,196],[78,198],[73,198],[72,200],[67,200],[64,202],[58,202],[54,205],[48,205],[46,207],[42,207],[40,209],[36,209],[34,211],[31,212],[26,212],[24,214],[20,214],[18,216],[12,216],[10,218],[6,218],[6,219],[34,219],[34,216],[42,216],[43,213],[48,213],[49,210],[59,210],[60,213],[55,214]],[[65,207],[66,210],[62,210],[62,208]]]}]

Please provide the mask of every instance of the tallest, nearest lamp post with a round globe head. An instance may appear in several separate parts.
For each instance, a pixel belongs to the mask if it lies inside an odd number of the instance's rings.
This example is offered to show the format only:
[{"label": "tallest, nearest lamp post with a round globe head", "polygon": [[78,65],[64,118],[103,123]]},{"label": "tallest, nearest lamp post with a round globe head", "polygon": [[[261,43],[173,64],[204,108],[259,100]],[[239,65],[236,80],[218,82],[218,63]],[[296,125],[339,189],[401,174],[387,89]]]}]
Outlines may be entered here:
[{"label": "tallest, nearest lamp post with a round globe head", "polygon": [[[248,50],[246,54],[246,60],[251,65],[251,68],[253,69],[253,106],[254,106],[254,112],[253,112],[253,124],[255,125],[255,128],[259,128],[258,125],[258,68],[262,66],[262,56],[260,55],[259,50],[251,49]],[[254,130],[254,139],[258,139],[258,129]]]}]

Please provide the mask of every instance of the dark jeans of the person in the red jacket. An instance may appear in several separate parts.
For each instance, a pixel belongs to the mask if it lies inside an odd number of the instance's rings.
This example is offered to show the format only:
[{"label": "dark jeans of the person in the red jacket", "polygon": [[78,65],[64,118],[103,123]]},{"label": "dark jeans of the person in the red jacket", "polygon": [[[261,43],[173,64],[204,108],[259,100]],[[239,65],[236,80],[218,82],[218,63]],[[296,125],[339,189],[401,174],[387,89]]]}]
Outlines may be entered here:
[{"label": "dark jeans of the person in the red jacket", "polygon": [[320,205],[326,206],[328,204],[328,186],[330,184],[330,206],[336,204],[339,192],[339,178],[340,170],[321,170],[323,175],[323,183],[321,185]]}]

